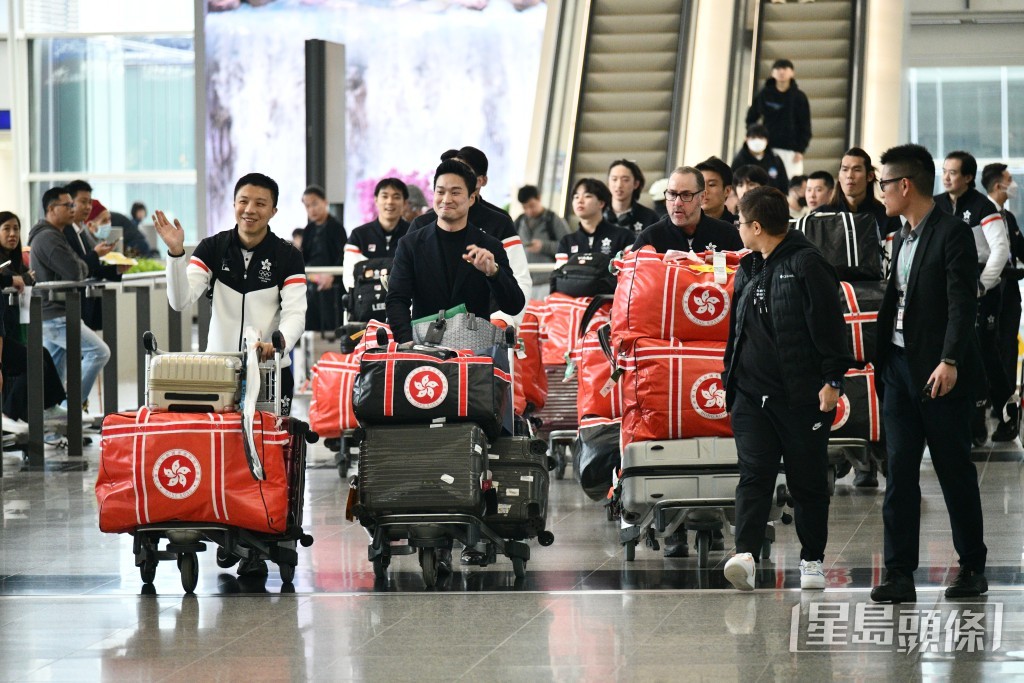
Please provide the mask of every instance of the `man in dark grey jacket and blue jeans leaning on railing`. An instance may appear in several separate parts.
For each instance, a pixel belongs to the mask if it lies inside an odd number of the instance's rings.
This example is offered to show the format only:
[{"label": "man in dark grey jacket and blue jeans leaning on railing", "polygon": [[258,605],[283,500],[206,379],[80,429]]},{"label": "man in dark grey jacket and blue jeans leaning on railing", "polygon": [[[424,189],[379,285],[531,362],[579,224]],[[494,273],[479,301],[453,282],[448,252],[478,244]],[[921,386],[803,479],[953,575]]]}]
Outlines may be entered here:
[{"label": "man in dark grey jacket and blue jeans leaning on railing", "polygon": [[[50,281],[81,281],[89,275],[89,265],[83,261],[71,248],[65,238],[63,229],[71,225],[74,218],[75,203],[63,187],[51,187],[43,193],[43,211],[45,217],[33,225],[29,232],[29,246],[32,248],[32,269],[36,271],[36,282]],[[111,251],[111,245],[100,242],[93,251],[102,256]],[[82,395],[69,397],[69,410],[83,410],[89,398],[92,385],[95,384],[99,371],[111,358],[111,349],[103,340],[89,329],[85,323],[82,328]],[[50,352],[53,362],[60,373],[60,378],[68,378],[68,317],[62,301],[43,301],[43,346]],[[76,400],[80,402],[74,405]]]}]

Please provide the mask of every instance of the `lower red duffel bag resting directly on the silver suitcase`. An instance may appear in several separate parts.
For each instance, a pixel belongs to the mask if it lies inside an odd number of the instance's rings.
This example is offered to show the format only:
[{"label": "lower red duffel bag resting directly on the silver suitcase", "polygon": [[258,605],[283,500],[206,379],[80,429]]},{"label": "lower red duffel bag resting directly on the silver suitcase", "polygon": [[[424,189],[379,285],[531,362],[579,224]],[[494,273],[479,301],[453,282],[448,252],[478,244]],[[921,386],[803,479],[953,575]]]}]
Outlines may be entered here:
[{"label": "lower red duffel bag resting directly on the silver suitcase", "polygon": [[637,339],[620,355],[623,445],[732,436],[722,385],[725,342]]}]

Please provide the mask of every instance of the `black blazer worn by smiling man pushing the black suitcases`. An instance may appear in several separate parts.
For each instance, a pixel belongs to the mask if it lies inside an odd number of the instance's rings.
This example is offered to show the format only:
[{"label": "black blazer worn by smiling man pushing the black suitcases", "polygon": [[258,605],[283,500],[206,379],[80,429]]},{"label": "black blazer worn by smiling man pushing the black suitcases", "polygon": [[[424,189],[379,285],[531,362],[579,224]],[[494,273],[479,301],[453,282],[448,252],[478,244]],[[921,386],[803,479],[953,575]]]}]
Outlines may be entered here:
[{"label": "black blazer worn by smiling man pushing the black suitcases", "polygon": [[398,251],[388,278],[386,299],[388,324],[398,343],[412,341],[413,319],[436,314],[439,310],[462,303],[466,304],[469,312],[483,318],[489,318],[490,313],[499,309],[515,315],[526,305],[502,243],[472,223],[465,229],[468,230],[467,246],[475,244],[495,255],[498,274],[494,278],[487,278],[471,263],[460,261],[450,288],[444,274],[444,256],[437,240],[436,221],[415,232],[408,232],[398,242]]}]

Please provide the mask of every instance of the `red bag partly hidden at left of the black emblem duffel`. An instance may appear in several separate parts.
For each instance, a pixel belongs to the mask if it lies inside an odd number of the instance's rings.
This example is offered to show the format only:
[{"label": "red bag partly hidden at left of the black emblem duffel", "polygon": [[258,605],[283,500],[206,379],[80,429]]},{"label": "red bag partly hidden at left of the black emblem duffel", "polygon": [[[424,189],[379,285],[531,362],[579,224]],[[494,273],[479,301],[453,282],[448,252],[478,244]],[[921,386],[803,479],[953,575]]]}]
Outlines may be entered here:
[{"label": "red bag partly hidden at left of the black emblem duffel", "polygon": [[359,375],[355,353],[328,351],[312,369],[309,427],[321,438],[337,438],[346,429],[359,426],[352,411],[352,386]]}]

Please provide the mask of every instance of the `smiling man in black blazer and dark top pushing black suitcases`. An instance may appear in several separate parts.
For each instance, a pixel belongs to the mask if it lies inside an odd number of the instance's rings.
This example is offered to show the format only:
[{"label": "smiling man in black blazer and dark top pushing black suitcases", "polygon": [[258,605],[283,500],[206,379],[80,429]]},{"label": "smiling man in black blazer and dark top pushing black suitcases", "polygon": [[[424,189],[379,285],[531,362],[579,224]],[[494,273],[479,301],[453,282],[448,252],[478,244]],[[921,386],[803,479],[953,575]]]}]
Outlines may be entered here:
[{"label": "smiling man in black blazer and dark top pushing black suitcases", "polygon": [[502,243],[469,222],[475,189],[469,166],[441,162],[434,173],[436,219],[398,242],[386,304],[398,343],[413,340],[413,318],[459,304],[485,319],[496,310],[511,315],[526,305]]}]

